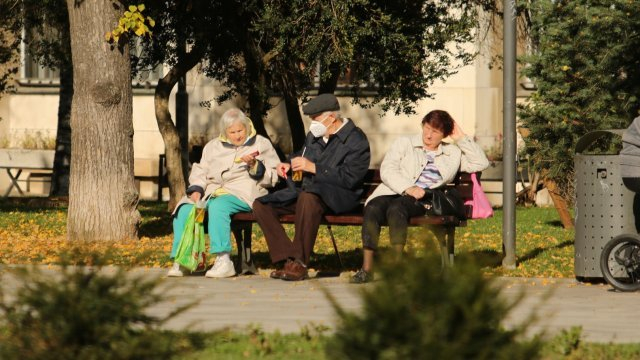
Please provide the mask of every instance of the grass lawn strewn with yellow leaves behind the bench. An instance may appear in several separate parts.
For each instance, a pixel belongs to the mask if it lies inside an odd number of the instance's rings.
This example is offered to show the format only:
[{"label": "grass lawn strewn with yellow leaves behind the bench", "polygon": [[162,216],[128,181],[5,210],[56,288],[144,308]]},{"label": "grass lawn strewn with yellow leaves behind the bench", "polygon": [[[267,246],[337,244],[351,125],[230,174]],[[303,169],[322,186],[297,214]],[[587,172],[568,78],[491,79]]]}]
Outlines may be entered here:
[{"label": "grass lawn strewn with yellow leaves behind the bench", "polygon": [[[86,246],[110,251],[113,263],[122,265],[166,267],[172,243],[170,214],[166,203],[142,202],[140,240],[130,243],[91,243]],[[70,249],[65,241],[66,207],[38,199],[0,200],[0,261],[7,264],[54,264],[59,255]],[[293,228],[287,231],[292,234]],[[260,228],[254,226],[253,252],[258,267],[270,267],[268,252]],[[360,266],[360,227],[334,227],[338,247],[346,268]],[[518,208],[516,223],[518,266],[504,270],[502,261],[502,211],[486,220],[471,220],[456,230],[456,255],[471,258],[487,274],[527,277],[573,277],[574,231],[562,228],[554,208]],[[383,229],[381,246],[389,245]],[[436,248],[430,232],[409,229],[408,251],[422,252]],[[322,227],[315,247],[312,267],[335,268],[331,238]]]}]

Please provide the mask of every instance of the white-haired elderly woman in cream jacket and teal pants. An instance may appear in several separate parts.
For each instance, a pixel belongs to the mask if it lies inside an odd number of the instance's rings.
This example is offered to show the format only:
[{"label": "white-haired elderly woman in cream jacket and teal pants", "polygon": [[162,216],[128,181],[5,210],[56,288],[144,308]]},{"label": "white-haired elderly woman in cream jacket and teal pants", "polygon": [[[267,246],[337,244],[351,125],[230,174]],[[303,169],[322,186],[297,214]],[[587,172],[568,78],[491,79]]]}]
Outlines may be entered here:
[{"label": "white-haired elderly woman in cream jacket and teal pants", "polygon": [[[187,196],[174,211],[173,247],[175,258],[180,239],[194,203],[207,200],[209,252],[216,255],[213,267],[205,276],[231,277],[236,274],[231,252],[231,216],[250,211],[257,197],[278,181],[276,166],[280,162],[269,139],[257,135],[251,120],[239,109],[222,115],[220,136],[209,141],[199,163],[189,175]],[[168,276],[183,276],[174,263]]]}]

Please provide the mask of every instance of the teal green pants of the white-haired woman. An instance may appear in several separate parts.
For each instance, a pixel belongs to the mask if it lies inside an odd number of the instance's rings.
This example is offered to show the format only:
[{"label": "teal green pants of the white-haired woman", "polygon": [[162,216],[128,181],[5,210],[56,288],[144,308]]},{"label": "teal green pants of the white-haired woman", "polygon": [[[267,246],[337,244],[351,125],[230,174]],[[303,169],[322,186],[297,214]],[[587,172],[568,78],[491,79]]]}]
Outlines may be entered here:
[{"label": "teal green pants of the white-haired woman", "polygon": [[[184,225],[192,208],[192,204],[180,206],[176,217],[173,219],[172,259],[176,257]],[[231,216],[242,211],[251,211],[251,207],[234,195],[227,194],[212,197],[207,201],[207,220],[209,222],[207,229],[211,240],[210,253],[231,252]]]}]

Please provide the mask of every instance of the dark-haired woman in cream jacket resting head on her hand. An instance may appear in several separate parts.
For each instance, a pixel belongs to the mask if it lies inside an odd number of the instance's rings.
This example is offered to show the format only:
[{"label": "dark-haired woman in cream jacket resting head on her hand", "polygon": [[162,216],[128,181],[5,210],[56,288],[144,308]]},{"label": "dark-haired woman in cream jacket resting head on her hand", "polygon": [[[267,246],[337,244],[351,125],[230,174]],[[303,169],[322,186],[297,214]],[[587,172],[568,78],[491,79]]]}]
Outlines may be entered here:
[{"label": "dark-haired woman in cream jacket resting head on her hand", "polygon": [[[442,142],[447,136],[453,144]],[[480,146],[462,132],[446,111],[429,112],[422,119],[422,134],[398,138],[382,160],[382,184],[365,203],[364,259],[351,282],[366,283],[373,279],[373,257],[382,224],[388,223],[391,244],[401,253],[407,241],[409,219],[426,213],[418,202],[425,189],[446,185],[458,170],[476,172],[488,166],[489,160]]]}]

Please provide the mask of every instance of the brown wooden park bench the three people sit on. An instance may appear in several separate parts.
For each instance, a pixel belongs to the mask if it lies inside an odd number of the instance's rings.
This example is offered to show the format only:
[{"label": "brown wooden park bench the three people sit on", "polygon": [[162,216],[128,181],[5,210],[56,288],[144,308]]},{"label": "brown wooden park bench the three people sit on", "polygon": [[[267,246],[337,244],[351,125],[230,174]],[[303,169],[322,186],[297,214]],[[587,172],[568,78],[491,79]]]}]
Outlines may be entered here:
[{"label": "brown wooden park bench the three people sit on", "polygon": [[[479,175],[478,173],[477,176]],[[343,267],[343,262],[340,252],[338,251],[338,246],[336,245],[332,226],[362,226],[364,201],[381,182],[380,171],[378,169],[370,169],[365,177],[364,191],[361,198],[362,205],[360,208],[346,214],[326,214],[322,218],[322,224],[327,226],[327,230],[331,236],[331,242],[333,243],[333,249],[338,257],[341,268]],[[470,199],[473,196],[473,183],[471,182],[471,175],[468,173],[458,173],[454,182],[447,186],[455,187],[460,192],[463,200]],[[467,206],[465,210],[468,216],[470,216],[471,207]],[[239,254],[239,264],[236,264],[236,268],[241,274],[255,274],[257,270],[251,258],[251,227],[252,224],[256,222],[256,219],[253,213],[242,212],[235,214],[231,220],[231,231],[236,239]],[[280,216],[280,222],[283,224],[293,224],[294,221],[294,214]],[[412,217],[409,222],[409,226],[429,226],[431,228],[440,245],[443,266],[453,265],[455,230],[456,227],[466,225],[466,220],[461,220],[456,216],[415,216]]]}]

